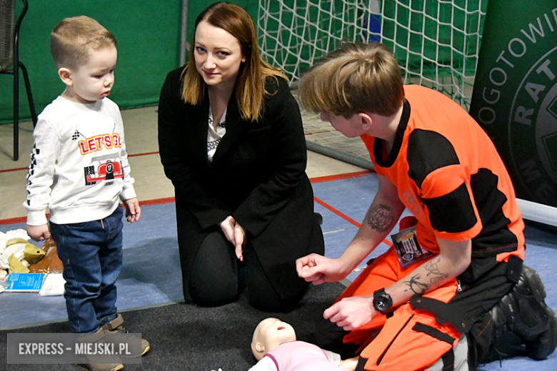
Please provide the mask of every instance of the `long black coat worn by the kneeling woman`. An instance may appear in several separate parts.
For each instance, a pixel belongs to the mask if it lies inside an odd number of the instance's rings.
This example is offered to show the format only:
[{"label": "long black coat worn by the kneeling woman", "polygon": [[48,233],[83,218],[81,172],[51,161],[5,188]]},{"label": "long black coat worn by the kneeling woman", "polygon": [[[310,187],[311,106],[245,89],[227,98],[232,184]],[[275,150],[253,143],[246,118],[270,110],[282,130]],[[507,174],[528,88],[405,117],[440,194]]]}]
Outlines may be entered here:
[{"label": "long black coat worn by the kneeling woman", "polygon": [[296,295],[306,285],[296,274],[295,260],[312,252],[323,254],[323,235],[313,215],[313,190],[305,173],[300,111],[286,80],[268,78],[271,94],[266,95],[258,121],[241,118],[232,93],[226,135],[209,163],[209,98],[197,106],[184,103],[182,71],[171,71],[161,91],[159,151],[175,188],[185,296],[191,261],[201,241],[228,215],[246,229],[279,295]]}]

